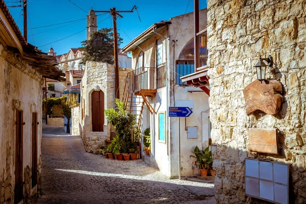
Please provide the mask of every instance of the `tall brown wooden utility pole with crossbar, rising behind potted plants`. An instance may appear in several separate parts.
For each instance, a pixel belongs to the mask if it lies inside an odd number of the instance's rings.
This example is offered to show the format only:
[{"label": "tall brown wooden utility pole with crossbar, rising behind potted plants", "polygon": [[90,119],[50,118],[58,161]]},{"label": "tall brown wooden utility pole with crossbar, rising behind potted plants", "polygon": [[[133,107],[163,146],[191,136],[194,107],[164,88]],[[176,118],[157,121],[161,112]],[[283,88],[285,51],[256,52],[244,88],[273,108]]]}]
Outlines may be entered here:
[{"label": "tall brown wooden utility pole with crossbar, rising behind potted plants", "polygon": [[114,33],[114,67],[115,67],[115,97],[120,99],[119,91],[119,64],[118,64],[118,32],[117,32],[117,15],[123,18],[119,13],[132,13],[136,6],[132,8],[131,11],[116,11],[116,8],[110,9],[110,11],[95,11],[98,13],[110,13],[113,17],[113,33]]}]

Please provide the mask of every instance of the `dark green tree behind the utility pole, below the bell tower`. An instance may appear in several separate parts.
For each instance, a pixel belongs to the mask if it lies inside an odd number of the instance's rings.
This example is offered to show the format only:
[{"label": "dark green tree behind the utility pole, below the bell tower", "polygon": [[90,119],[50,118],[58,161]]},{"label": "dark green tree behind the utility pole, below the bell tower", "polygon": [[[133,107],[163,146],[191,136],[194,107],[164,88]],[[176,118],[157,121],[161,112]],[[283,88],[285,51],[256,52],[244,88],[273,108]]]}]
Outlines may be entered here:
[{"label": "dark green tree behind the utility pole, below the bell tower", "polygon": [[[123,39],[118,34],[118,48]],[[114,64],[114,35],[113,29],[102,28],[94,32],[89,40],[82,42],[81,50],[84,51],[83,62],[106,62]]]}]

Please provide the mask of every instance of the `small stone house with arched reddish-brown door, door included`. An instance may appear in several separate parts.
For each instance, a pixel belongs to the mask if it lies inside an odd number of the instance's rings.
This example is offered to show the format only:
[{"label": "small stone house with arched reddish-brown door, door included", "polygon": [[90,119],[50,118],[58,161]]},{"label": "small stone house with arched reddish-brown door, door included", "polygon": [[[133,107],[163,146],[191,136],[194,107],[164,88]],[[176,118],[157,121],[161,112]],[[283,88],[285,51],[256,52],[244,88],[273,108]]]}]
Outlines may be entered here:
[{"label": "small stone house with arched reddish-brown door, door included", "polygon": [[[119,68],[120,94],[129,71]],[[105,140],[111,140],[111,125],[104,110],[115,107],[114,65],[87,62],[80,87],[81,103],[72,107],[72,133],[82,135],[86,151],[99,154]]]}]

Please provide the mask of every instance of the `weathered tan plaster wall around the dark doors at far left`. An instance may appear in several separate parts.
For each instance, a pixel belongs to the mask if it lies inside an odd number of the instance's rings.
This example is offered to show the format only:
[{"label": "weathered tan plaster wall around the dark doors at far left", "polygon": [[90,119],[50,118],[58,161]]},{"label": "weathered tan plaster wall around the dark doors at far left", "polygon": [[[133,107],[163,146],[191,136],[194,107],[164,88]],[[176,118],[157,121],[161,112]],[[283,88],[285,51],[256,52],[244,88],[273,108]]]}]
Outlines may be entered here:
[{"label": "weathered tan plaster wall around the dark doors at far left", "polygon": [[[9,63],[13,62],[12,64]],[[14,203],[15,189],[15,112],[23,111],[23,181],[24,203],[28,203],[37,186],[31,185],[32,113],[38,116],[37,161],[41,172],[41,75],[0,44],[0,203]],[[38,179],[38,188],[39,188]]]}]

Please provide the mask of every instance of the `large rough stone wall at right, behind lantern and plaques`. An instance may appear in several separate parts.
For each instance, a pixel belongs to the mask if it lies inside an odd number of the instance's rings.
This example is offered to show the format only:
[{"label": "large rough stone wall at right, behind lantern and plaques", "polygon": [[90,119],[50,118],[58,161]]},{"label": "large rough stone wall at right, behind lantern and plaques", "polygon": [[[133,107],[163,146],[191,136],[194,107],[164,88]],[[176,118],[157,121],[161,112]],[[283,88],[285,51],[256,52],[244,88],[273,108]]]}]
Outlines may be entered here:
[{"label": "large rough stone wall at right, behind lantern and plaques", "polygon": [[[305,67],[306,1],[208,1],[210,117],[216,199],[253,203],[245,196],[245,159],[290,164],[290,201],[306,203]],[[283,84],[276,116],[246,115],[243,89],[256,80],[259,56],[272,55]],[[248,128],[277,128],[279,155],[248,152]],[[263,201],[264,202],[264,201]]]}]

